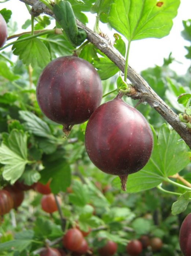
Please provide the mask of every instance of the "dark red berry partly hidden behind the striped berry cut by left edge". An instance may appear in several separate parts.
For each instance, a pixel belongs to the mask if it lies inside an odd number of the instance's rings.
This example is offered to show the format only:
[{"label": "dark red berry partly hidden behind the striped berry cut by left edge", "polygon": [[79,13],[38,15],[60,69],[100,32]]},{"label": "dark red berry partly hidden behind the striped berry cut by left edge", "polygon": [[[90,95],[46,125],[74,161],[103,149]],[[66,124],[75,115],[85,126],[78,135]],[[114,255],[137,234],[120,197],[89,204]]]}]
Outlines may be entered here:
[{"label": "dark red berry partly hidden behind the striped berry cut by left edge", "polygon": [[22,190],[16,189],[15,186],[8,185],[4,187],[5,190],[7,190],[13,200],[13,208],[17,209],[23,202],[25,194]]}]

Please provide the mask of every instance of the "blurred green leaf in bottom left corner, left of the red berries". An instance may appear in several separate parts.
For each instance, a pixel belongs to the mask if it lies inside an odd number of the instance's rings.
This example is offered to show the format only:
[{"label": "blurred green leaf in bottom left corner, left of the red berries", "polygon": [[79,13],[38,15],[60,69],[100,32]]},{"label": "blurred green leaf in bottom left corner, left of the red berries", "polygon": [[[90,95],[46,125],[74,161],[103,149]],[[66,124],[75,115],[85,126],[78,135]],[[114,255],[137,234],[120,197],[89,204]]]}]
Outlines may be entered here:
[{"label": "blurred green leaf in bottom left corner, left of the red berries", "polygon": [[33,231],[21,231],[15,235],[15,240],[0,244],[0,252],[14,250],[22,252],[33,242]]}]

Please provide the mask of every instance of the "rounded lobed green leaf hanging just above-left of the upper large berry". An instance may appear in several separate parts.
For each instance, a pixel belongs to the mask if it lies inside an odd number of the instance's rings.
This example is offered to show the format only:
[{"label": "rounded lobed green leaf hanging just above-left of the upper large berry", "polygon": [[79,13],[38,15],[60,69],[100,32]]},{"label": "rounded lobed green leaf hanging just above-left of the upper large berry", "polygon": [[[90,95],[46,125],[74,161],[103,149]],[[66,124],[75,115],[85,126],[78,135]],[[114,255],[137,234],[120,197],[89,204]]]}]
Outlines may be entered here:
[{"label": "rounded lobed green leaf hanging just above-left of the upper large berry", "polygon": [[50,53],[43,42],[38,38],[28,39],[28,34],[20,36],[18,39],[26,38],[26,41],[14,43],[13,53],[19,56],[24,64],[43,69],[50,62]]}]

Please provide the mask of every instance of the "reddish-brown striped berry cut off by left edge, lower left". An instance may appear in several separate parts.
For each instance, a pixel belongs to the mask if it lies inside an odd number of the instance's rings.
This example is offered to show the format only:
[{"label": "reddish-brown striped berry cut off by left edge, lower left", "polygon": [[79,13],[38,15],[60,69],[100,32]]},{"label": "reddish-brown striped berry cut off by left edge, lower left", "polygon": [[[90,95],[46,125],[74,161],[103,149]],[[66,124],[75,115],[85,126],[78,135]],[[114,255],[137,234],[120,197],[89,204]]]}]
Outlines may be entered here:
[{"label": "reddish-brown striped berry cut off by left edge, lower left", "polygon": [[13,208],[11,194],[7,190],[0,190],[0,215],[9,213]]}]

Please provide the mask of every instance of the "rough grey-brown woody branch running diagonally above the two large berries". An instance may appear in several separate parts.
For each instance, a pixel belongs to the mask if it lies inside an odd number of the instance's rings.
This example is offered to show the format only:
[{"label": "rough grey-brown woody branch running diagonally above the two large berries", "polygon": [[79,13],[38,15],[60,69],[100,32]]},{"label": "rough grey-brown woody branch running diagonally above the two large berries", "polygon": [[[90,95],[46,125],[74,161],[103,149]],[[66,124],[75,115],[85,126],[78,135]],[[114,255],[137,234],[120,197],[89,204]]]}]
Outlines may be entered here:
[{"label": "rough grey-brown woody branch running diagonally above the two large berries", "polygon": [[[32,6],[32,12],[34,15],[45,13],[54,16],[52,11],[38,0],[19,1]],[[106,38],[96,34],[80,21],[76,20],[76,23],[79,28],[82,28],[87,32],[88,41],[95,45],[107,57],[109,57],[109,59],[114,62],[122,72],[124,72],[125,59],[117,51],[117,49],[115,49]],[[170,107],[147,84],[143,77],[141,77],[131,66],[128,66],[128,79],[132,82],[133,87],[135,87],[135,89],[139,92],[139,98],[141,98],[142,101],[148,102],[148,104],[154,108],[173,127],[173,129],[176,130],[180,137],[183,138],[186,144],[191,148],[190,130],[187,129],[184,123],[180,122],[176,113],[170,109]]]}]

